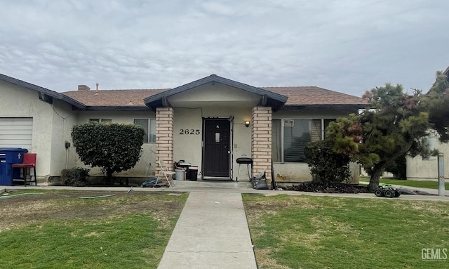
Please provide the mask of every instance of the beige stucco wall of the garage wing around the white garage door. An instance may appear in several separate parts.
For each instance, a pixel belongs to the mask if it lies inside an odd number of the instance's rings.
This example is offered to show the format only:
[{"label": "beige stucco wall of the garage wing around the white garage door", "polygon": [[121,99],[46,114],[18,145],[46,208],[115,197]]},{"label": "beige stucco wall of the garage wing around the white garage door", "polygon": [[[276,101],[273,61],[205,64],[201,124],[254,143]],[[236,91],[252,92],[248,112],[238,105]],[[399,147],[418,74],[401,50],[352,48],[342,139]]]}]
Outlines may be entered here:
[{"label": "beige stucco wall of the garage wing around the white garage door", "polygon": [[65,166],[67,126],[74,122],[71,107],[59,100],[53,105],[39,100],[37,91],[0,81],[0,117],[32,117],[32,148],[36,152],[39,181],[58,176]]}]

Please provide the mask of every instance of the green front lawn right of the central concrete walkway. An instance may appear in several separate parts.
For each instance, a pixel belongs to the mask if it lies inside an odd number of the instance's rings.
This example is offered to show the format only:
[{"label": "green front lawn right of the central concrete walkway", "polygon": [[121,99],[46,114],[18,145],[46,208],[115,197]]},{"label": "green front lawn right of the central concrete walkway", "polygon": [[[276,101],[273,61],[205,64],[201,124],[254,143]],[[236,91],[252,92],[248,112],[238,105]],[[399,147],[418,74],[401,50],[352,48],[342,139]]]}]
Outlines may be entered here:
[{"label": "green front lawn right of the central concrete walkway", "polygon": [[[243,201],[259,268],[449,268],[449,202],[306,195]],[[428,261],[423,249],[440,249],[440,258],[446,249],[448,257]]]}]

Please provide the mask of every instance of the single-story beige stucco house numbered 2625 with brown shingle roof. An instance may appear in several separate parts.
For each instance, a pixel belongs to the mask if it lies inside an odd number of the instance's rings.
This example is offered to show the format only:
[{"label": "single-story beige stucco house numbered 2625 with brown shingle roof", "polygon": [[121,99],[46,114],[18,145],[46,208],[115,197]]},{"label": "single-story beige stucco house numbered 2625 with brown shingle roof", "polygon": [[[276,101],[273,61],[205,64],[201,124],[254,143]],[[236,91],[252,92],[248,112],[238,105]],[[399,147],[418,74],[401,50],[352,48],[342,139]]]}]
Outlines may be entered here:
[{"label": "single-story beige stucco house numbered 2625 with brown shingle roof", "polygon": [[[366,101],[319,87],[267,87],[243,84],[215,74],[171,89],[91,90],[56,93],[0,75],[0,147],[27,147],[38,154],[41,181],[66,167],[83,166],[72,143],[75,124],[90,120],[139,124],[145,129],[142,157],[123,176],[158,173],[156,159],[168,166],[185,160],[199,168],[199,178],[248,180],[236,159],[253,159],[251,173],[265,171],[288,181],[309,181],[304,145],[320,140],[329,122],[356,113]],[[18,122],[25,122],[25,140]],[[2,128],[3,129],[3,128]],[[242,165],[243,166],[243,165]],[[92,169],[91,173],[99,173]],[[358,179],[358,167],[354,169]]]}]

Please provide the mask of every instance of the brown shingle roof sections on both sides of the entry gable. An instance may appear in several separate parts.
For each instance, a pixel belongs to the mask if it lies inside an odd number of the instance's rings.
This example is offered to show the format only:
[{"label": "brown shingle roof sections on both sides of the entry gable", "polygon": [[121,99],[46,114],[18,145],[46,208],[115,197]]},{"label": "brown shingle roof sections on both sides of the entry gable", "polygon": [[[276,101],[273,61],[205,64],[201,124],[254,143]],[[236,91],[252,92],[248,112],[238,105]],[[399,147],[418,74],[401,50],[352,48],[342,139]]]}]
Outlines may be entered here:
[{"label": "brown shingle roof sections on both sides of the entry gable", "polygon": [[[366,100],[316,86],[261,87],[288,96],[286,105],[364,105]],[[63,94],[88,106],[142,106],[144,99],[168,89],[67,91]]]}]

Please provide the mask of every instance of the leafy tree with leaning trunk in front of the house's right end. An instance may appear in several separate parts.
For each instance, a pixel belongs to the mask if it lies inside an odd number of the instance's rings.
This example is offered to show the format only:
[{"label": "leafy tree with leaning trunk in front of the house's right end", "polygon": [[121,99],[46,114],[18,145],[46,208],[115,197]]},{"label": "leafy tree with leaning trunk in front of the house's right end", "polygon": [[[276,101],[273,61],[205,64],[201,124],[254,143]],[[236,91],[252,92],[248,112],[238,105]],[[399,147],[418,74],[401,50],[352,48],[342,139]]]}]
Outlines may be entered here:
[{"label": "leafy tree with leaning trunk in front of the house's right end", "polygon": [[348,154],[368,171],[368,189],[374,190],[389,162],[405,153],[422,152],[420,140],[428,136],[432,124],[428,107],[420,105],[426,97],[419,90],[408,95],[401,85],[385,84],[363,97],[370,109],[337,119],[327,132],[335,151]]}]

